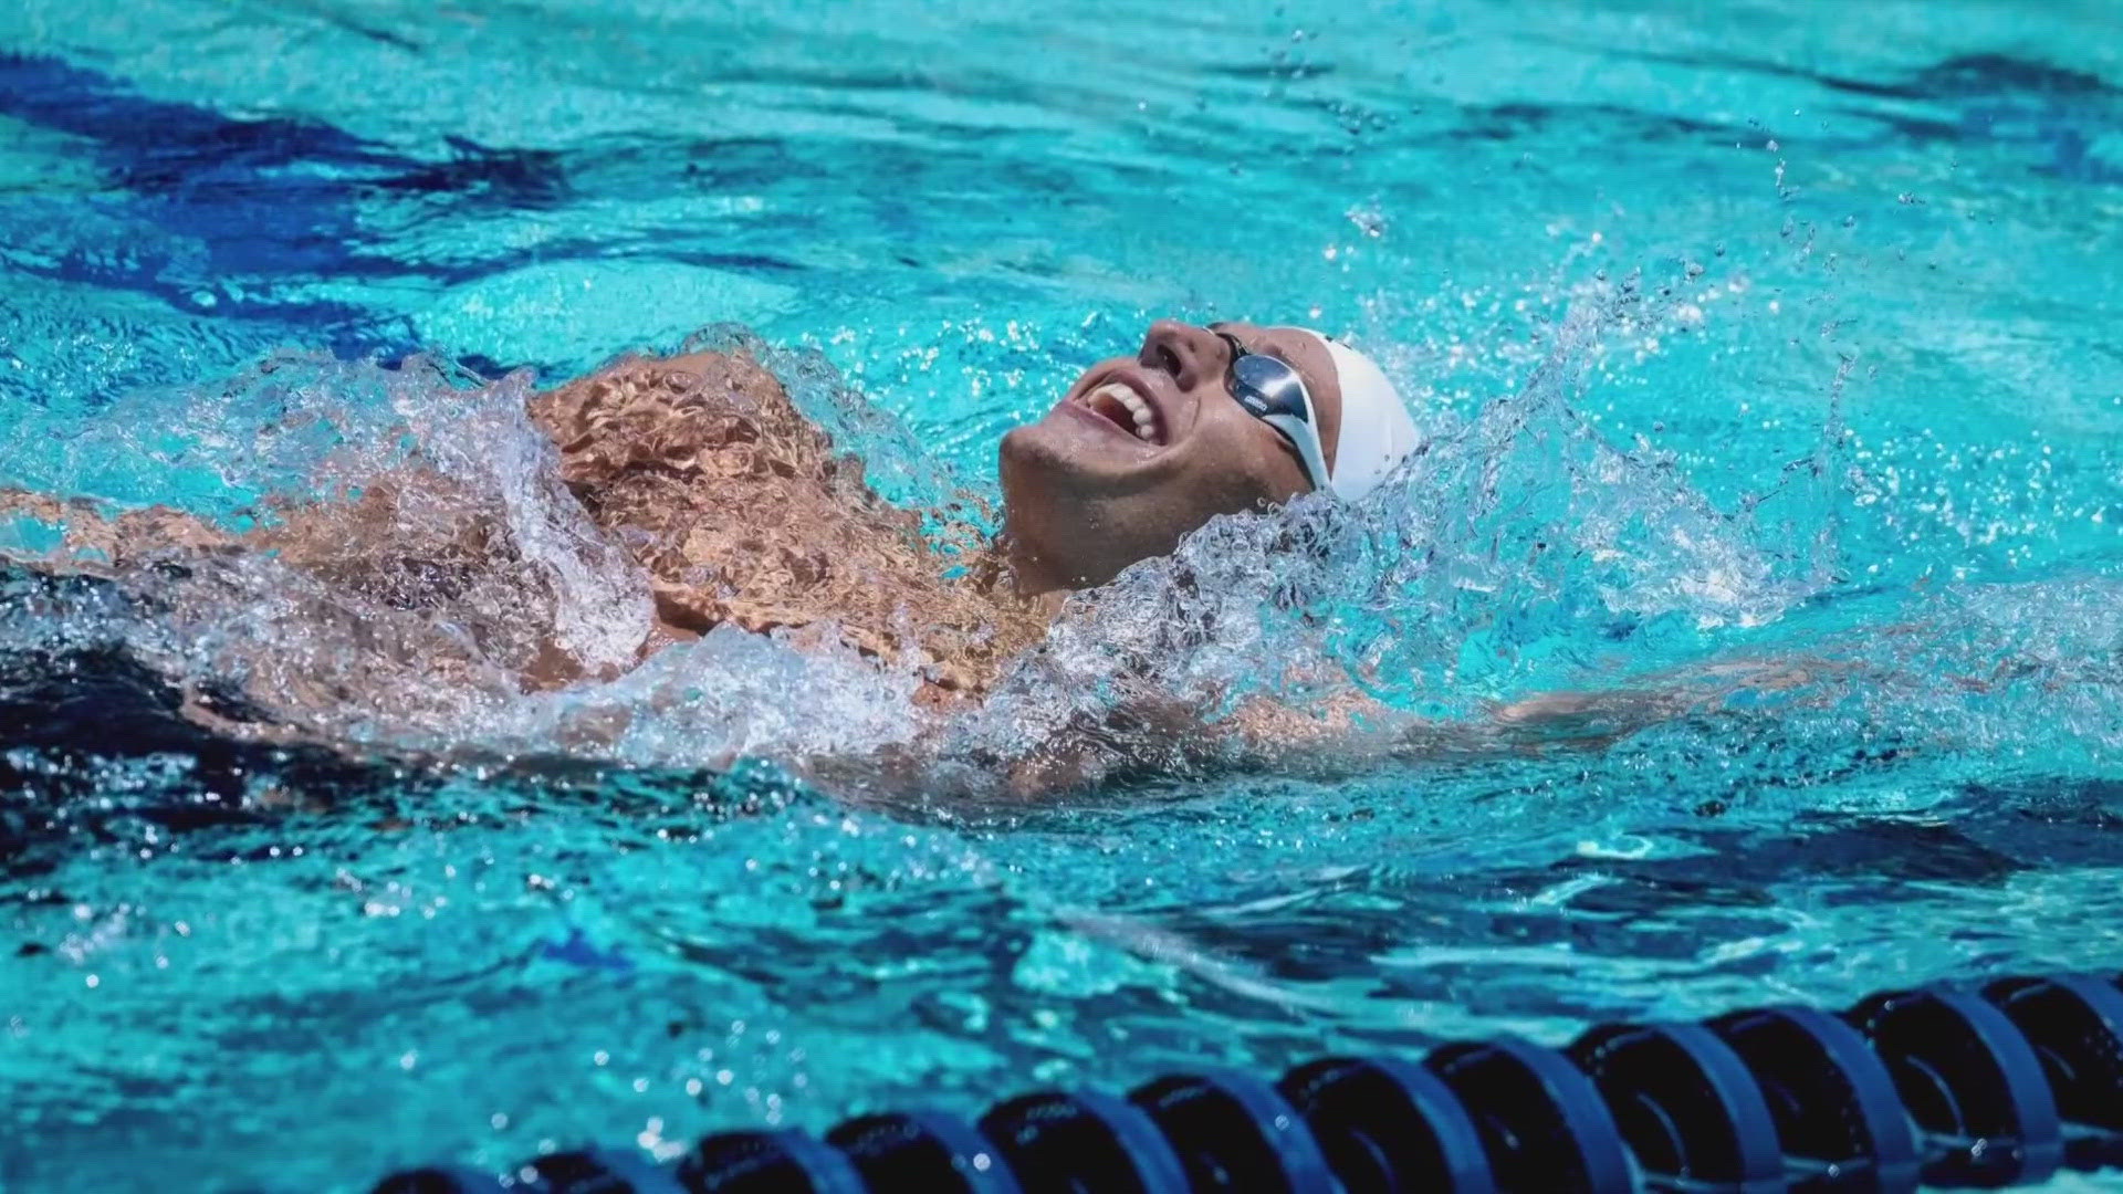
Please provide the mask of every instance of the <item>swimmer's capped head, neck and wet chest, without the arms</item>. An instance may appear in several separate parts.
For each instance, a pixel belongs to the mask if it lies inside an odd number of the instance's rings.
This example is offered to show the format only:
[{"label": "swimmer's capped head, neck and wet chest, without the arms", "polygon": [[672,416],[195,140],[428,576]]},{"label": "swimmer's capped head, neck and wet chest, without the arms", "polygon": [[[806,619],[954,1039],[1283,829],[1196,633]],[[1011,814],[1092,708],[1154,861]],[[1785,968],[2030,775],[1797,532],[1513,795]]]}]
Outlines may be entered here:
[{"label": "swimmer's capped head, neck and wet chest, without the arms", "polygon": [[[949,582],[907,514],[839,467],[752,359],[622,363],[531,406],[575,497],[641,544],[654,642],[834,620],[870,654],[915,646],[926,701],[979,697],[1070,591],[1168,555],[1219,514],[1314,489],[1361,497],[1416,446],[1393,382],[1346,344],[1159,321],[1002,438],[1002,533]],[[917,614],[913,644],[902,610]]]}]

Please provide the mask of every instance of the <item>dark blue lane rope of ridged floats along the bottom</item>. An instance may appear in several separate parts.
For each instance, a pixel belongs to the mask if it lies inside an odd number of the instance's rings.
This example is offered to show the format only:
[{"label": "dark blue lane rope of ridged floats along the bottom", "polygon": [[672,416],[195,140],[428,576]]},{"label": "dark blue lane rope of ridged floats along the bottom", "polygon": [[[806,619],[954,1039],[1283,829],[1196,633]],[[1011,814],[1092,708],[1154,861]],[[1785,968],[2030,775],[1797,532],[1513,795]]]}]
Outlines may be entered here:
[{"label": "dark blue lane rope of ridged floats along the bottom", "polygon": [[1913,1194],[2059,1169],[2123,1169],[2123,975],[1325,1058],[1280,1081],[1197,1069],[979,1122],[877,1113],[824,1139],[718,1132],[673,1166],[573,1152],[376,1194]]}]

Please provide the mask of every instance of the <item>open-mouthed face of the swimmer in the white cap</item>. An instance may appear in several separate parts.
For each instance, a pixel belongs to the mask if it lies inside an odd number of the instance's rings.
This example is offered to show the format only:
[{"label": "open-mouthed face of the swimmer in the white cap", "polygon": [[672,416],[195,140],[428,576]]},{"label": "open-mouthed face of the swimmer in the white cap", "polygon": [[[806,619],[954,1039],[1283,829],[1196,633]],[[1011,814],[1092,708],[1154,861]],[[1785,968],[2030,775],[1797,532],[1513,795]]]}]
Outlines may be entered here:
[{"label": "open-mouthed face of the swimmer in the white cap", "polygon": [[[1331,465],[1342,389],[1327,346],[1295,327],[1212,327],[1297,368]],[[1004,529],[1021,591],[1104,584],[1216,514],[1312,489],[1291,442],[1225,389],[1229,365],[1216,331],[1161,319],[1134,357],[1091,365],[1045,419],[1002,438]]]}]

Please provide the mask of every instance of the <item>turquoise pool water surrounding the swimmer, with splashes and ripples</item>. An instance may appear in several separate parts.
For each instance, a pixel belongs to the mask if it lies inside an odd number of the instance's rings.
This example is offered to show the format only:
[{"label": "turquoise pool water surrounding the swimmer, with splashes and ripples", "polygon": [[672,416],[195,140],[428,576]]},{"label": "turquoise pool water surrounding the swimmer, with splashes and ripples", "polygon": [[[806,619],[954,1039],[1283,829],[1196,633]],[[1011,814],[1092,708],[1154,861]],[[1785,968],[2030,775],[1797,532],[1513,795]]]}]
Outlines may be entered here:
[{"label": "turquoise pool water surrounding the swimmer, with splashes and ripples", "polygon": [[[1603,748],[881,807],[773,767],[904,733],[849,661],[709,642],[563,697],[350,707],[331,729],[378,748],[639,718],[567,769],[393,778],[40,705],[83,661],[355,650],[272,591],[178,616],[8,572],[0,1186],[359,1190],[2123,967],[2119,17],[1709,13],[11,6],[0,484],[229,514],[389,431],[558,518],[478,378],[741,325],[932,501],[991,493],[996,436],[1146,319],[1287,319],[1378,348],[1433,453],[1359,512],[1299,504],[1304,572],[1240,523],[1195,582],[1129,574],[964,741],[1095,701],[1117,654],[1327,661],[1467,722],[1734,661],[1802,680]],[[435,363],[384,368],[410,353]],[[624,584],[584,567],[594,642]],[[1274,584],[1312,616],[1153,633]]]}]

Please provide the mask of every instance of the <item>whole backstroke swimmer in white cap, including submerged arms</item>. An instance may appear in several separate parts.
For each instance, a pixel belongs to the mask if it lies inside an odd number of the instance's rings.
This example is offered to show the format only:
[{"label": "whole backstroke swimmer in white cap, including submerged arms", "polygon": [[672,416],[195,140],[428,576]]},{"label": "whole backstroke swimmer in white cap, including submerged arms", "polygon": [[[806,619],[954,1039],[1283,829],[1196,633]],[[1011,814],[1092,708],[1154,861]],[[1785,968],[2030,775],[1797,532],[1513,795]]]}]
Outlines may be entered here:
[{"label": "whole backstroke swimmer in white cap, including submerged arms", "polygon": [[[921,516],[881,499],[860,461],[836,455],[745,348],[624,359],[533,393],[527,414],[558,450],[558,482],[648,578],[652,601],[624,661],[567,642],[556,582],[516,542],[524,529],[490,501],[452,493],[437,467],[363,478],[350,501],[282,501],[244,531],[163,508],[110,514],[28,493],[0,495],[0,512],[64,527],[70,563],[47,557],[47,572],[123,578],[178,563],[189,576],[270,555],[321,584],[304,616],[340,618],[346,637],[367,631],[361,601],[429,612],[420,625],[439,627],[352,663],[321,652],[297,667],[251,669],[246,699],[267,720],[329,720],[331,701],[376,693],[418,701],[452,678],[497,669],[518,690],[605,680],[718,627],[913,661],[917,703],[949,712],[979,703],[1070,593],[1172,552],[1221,514],[1263,514],[1314,491],[1361,499],[1418,448],[1393,382],[1348,344],[1301,327],[1170,319],[1002,438],[994,540],[924,533]],[[1255,699],[1206,733],[1212,727],[1185,707],[1138,693],[1110,718],[1125,724],[1074,727],[1072,739],[994,765],[1008,790],[1047,792],[1110,775],[1115,754],[1121,769],[1127,754],[1253,767],[1331,754],[1361,767],[1429,741],[1429,727],[1354,695],[1327,705],[1295,714]],[[1499,710],[1478,729],[1539,731],[1548,707]],[[1601,703],[1590,703],[1592,716],[1586,707],[1567,703],[1571,724],[1609,735]],[[187,710],[217,716],[212,703]],[[1465,727],[1454,733],[1465,737]]]}]

